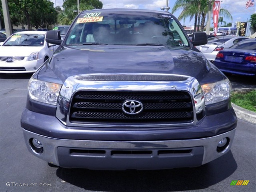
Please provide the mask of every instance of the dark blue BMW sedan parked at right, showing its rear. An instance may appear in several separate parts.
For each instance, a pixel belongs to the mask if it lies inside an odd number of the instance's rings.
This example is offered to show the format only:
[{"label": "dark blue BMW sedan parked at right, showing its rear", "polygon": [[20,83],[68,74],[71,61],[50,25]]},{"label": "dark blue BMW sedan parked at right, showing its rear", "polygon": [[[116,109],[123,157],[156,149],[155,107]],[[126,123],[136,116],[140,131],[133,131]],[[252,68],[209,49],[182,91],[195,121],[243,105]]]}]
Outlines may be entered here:
[{"label": "dark blue BMW sedan parked at right, showing its rear", "polygon": [[256,39],[243,40],[219,51],[214,65],[222,72],[256,76]]}]

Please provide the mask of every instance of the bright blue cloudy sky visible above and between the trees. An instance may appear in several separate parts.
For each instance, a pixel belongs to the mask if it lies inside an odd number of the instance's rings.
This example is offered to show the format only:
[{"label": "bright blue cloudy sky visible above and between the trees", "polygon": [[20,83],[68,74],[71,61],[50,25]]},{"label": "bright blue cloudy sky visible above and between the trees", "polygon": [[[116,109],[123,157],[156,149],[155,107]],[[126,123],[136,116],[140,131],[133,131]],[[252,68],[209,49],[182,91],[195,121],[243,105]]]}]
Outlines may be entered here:
[{"label": "bright blue cloudy sky visible above and between the trees", "polygon": [[[55,3],[56,6],[62,6],[63,0],[50,0],[51,2]],[[103,3],[103,8],[134,8],[134,9],[152,9],[152,10],[159,10],[161,11],[161,7],[166,7],[167,0],[101,0]],[[254,2],[254,7],[249,7],[246,9],[245,4],[248,0],[222,0],[221,1],[221,8],[225,8],[229,11],[232,15],[233,20],[224,18],[223,20],[227,23],[229,22],[246,22],[250,19],[250,16],[256,13],[256,2]],[[168,0],[168,6],[170,7],[170,12],[173,8],[174,3],[176,0]],[[174,13],[175,17],[178,17],[181,13],[181,9],[177,10]],[[212,21],[213,22],[213,21]],[[212,23],[211,22],[211,23]],[[190,22],[189,18],[184,20],[180,20],[182,25],[186,26],[193,26],[194,19]],[[212,24],[213,26],[213,24]]]}]

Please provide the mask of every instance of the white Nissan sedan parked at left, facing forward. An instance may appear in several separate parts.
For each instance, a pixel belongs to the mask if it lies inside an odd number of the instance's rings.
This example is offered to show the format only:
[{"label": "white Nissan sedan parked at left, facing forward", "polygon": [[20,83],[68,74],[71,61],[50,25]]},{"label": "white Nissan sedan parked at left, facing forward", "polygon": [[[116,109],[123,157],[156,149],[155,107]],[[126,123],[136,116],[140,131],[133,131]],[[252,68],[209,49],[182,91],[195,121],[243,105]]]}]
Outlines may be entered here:
[{"label": "white Nissan sedan parked at left, facing forward", "polygon": [[54,52],[46,31],[21,31],[0,43],[0,73],[33,73]]}]

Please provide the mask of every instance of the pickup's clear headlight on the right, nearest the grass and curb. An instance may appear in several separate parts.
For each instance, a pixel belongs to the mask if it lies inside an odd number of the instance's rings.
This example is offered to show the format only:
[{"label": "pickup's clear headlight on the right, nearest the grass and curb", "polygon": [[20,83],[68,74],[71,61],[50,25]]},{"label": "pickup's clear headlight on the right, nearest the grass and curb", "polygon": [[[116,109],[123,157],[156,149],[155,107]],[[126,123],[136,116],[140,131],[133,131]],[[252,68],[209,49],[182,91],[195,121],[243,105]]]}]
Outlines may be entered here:
[{"label": "pickup's clear headlight on the right, nearest the grass and curb", "polygon": [[204,92],[206,105],[224,101],[230,97],[231,83],[228,79],[215,83],[203,84],[201,87]]}]

